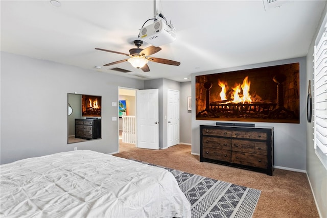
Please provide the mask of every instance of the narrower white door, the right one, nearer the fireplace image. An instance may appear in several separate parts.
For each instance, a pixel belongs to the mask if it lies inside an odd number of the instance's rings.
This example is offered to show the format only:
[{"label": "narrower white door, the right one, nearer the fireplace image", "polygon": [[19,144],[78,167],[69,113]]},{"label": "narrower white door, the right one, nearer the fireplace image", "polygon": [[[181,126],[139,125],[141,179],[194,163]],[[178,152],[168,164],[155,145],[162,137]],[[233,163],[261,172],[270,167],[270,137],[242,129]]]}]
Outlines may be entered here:
[{"label": "narrower white door, the right one, nearer the fireplace image", "polygon": [[167,143],[168,147],[179,144],[179,91],[167,92]]}]

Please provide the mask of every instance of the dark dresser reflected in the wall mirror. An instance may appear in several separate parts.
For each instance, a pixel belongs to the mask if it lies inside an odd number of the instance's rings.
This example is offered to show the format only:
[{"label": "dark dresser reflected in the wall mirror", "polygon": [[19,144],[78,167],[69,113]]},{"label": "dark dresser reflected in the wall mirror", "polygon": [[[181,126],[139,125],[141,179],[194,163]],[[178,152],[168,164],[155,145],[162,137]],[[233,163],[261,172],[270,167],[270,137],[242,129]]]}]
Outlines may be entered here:
[{"label": "dark dresser reflected in the wall mirror", "polygon": [[101,138],[101,119],[75,119],[75,138]]}]

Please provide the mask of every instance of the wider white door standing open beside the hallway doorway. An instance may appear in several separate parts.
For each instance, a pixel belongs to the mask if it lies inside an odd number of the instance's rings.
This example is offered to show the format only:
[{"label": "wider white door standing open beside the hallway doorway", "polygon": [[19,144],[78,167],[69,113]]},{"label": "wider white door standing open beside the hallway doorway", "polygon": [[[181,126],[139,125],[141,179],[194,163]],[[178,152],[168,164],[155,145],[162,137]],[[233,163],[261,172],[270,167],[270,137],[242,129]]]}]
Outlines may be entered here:
[{"label": "wider white door standing open beside the hallway doorway", "polygon": [[136,92],[137,148],[159,149],[159,90]]}]

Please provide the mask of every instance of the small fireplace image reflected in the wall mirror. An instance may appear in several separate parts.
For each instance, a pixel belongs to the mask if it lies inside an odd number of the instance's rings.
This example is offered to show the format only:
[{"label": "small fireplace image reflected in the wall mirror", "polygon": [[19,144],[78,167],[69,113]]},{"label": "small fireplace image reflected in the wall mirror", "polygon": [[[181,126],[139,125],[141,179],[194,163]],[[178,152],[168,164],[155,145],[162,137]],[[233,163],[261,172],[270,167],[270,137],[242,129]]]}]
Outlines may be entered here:
[{"label": "small fireplace image reflected in the wall mirror", "polygon": [[101,96],[82,94],[82,116],[101,116]]}]

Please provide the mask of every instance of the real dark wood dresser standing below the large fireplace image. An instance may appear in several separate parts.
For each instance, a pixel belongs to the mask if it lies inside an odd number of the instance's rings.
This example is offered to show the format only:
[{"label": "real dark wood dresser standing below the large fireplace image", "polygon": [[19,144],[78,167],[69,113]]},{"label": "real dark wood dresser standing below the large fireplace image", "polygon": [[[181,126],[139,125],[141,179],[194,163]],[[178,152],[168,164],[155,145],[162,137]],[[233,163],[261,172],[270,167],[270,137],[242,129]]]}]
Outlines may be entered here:
[{"label": "real dark wood dresser standing below the large fireplace image", "polygon": [[200,161],[272,176],[273,133],[273,127],[200,125]]}]

